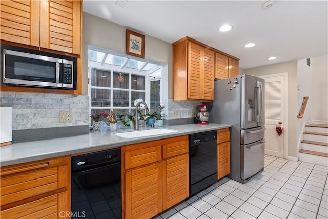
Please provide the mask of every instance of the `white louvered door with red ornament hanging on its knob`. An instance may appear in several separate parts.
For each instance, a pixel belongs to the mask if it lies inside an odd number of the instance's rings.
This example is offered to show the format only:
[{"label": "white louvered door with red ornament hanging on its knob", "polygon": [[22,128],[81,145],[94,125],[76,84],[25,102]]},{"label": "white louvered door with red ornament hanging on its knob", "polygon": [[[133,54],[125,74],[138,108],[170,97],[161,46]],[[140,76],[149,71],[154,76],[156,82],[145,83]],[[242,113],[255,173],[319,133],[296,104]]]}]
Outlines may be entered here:
[{"label": "white louvered door with red ornament hanging on its knob", "polygon": [[285,75],[261,76],[265,79],[265,154],[284,158],[284,132],[278,135],[276,126],[284,127]]}]

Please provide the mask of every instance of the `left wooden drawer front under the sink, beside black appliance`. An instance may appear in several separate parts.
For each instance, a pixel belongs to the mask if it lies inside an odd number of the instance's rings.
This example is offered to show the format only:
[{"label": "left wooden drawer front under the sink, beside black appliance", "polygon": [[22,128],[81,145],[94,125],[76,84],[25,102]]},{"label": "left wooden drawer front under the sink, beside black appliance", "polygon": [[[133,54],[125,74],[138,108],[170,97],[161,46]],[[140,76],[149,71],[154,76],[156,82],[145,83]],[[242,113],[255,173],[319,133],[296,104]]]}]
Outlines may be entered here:
[{"label": "left wooden drawer front under the sink, beside black appliance", "polygon": [[161,160],[161,146],[135,149],[125,152],[125,169],[131,169]]}]

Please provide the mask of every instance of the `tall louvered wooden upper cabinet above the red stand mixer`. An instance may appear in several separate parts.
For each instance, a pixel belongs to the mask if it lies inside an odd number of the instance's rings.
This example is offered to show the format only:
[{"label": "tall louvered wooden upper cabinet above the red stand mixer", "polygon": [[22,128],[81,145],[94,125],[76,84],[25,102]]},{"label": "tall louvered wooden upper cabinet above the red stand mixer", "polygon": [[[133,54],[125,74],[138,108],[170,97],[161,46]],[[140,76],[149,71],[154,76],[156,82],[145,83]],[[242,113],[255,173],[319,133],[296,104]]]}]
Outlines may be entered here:
[{"label": "tall louvered wooden upper cabinet above the red stand mixer", "polygon": [[214,51],[185,37],[173,43],[173,99],[213,100]]}]

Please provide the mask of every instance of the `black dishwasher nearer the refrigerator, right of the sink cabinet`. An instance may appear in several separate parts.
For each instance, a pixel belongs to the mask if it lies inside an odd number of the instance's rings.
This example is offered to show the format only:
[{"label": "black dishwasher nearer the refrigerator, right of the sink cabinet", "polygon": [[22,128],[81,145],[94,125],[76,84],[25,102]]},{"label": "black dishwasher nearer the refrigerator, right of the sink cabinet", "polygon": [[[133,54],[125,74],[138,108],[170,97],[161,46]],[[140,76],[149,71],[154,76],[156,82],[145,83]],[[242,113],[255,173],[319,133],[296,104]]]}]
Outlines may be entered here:
[{"label": "black dishwasher nearer the refrigerator, right of the sink cabinet", "polygon": [[217,131],[189,135],[190,196],[217,181]]}]

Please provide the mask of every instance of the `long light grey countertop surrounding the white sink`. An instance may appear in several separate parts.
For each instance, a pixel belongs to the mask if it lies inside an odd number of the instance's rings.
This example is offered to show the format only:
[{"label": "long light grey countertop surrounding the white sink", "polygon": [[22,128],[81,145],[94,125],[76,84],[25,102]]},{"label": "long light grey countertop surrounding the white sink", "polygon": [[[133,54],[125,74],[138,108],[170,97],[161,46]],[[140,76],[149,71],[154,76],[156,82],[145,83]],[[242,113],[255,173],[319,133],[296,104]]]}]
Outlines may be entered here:
[{"label": "long light grey countertop surrounding the white sink", "polygon": [[[134,131],[134,129],[124,128],[115,132],[110,131],[109,128],[107,128],[106,131],[90,131],[89,134],[72,137],[61,137],[50,140],[14,143],[12,145],[0,147],[0,166],[38,161],[46,158],[84,153],[93,150],[111,149],[123,145],[154,141],[162,138],[175,137],[228,127],[231,127],[231,125],[215,123],[211,123],[209,125],[187,124],[163,126],[159,128],[169,128],[177,131],[168,134],[156,134],[134,138],[124,138],[115,135],[115,133],[118,132]],[[140,127],[139,130],[144,129],[151,128]]]}]

